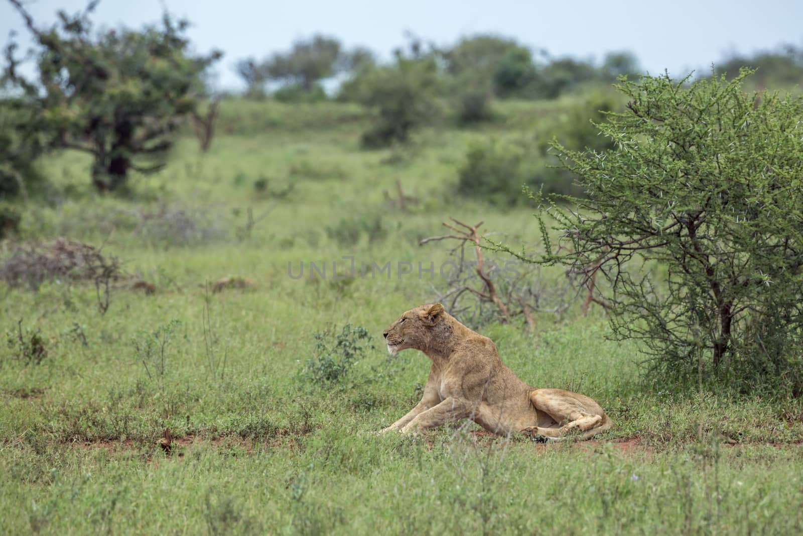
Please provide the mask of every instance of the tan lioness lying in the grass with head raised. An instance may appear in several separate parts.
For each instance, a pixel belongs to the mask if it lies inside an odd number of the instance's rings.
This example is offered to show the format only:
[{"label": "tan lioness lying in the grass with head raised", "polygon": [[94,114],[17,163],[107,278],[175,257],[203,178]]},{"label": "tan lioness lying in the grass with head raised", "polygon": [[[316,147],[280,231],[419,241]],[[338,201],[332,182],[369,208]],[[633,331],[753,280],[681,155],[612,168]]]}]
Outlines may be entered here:
[{"label": "tan lioness lying in the grass with head raised", "polygon": [[468,329],[443,309],[421,305],[402,314],[383,333],[388,351],[414,348],[432,360],[421,402],[388,428],[418,432],[448,420],[471,419],[500,436],[578,439],[610,428],[599,404],[560,389],[535,389],[499,360],[491,339]]}]

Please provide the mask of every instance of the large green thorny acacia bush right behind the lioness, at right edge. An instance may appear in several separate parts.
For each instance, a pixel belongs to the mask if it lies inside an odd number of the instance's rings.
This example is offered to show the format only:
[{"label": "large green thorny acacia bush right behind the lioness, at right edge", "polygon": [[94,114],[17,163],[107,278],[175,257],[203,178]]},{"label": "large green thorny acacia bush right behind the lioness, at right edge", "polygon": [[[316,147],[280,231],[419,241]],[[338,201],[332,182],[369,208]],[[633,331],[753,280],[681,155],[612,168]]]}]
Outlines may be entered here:
[{"label": "large green thorny acacia bush right behind the lioness, at right edge", "polygon": [[797,396],[803,99],[747,94],[749,74],[622,78],[626,112],[597,123],[612,148],[553,144],[588,198],[540,200],[548,253],[536,261],[598,268],[611,283],[614,333],[643,342],[659,378],[703,374]]}]

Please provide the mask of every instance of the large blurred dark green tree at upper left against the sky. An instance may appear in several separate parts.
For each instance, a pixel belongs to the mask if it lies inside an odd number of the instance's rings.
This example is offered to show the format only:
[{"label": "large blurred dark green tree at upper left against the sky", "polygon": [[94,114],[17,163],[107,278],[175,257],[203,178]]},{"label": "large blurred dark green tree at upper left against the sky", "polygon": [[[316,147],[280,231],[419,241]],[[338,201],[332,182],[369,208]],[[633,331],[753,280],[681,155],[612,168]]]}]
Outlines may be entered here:
[{"label": "large blurred dark green tree at upper left against the sky", "polygon": [[14,43],[6,49],[4,79],[35,112],[51,145],[92,154],[92,183],[116,190],[131,170],[150,173],[165,166],[169,136],[194,111],[205,88],[202,75],[221,57],[213,51],[192,56],[188,23],[168,14],[160,27],[103,31],[94,35],[89,14],[59,11],[59,23],[39,30],[19,0],[38,46],[39,80],[18,72]]}]

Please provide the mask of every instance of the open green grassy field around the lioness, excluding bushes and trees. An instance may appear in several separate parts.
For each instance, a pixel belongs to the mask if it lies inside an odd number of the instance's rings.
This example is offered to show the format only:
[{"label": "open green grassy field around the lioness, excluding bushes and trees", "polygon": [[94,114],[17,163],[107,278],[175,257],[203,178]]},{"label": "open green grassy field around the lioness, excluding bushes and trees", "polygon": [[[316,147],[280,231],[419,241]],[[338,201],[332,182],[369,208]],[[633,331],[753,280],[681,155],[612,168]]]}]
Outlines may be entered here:
[{"label": "open green grassy field around the lioness, excluding bushes and trees", "polygon": [[[454,197],[467,145],[564,104],[509,103],[493,125],[366,152],[359,108],[225,102],[210,153],[182,139],[120,198],[92,194],[79,156],[46,162],[52,190],[23,207],[2,257],[59,236],[103,244],[156,292],[117,284],[101,314],[92,284],[0,287],[0,534],[801,533],[801,403],[650,383],[637,346],[578,304],[535,333],[482,332],[528,383],[597,399],[615,423],[597,440],[494,439],[473,423],[375,433],[429,369],[381,340],[442,287],[418,263],[449,260],[446,244],[418,240],[449,216],[512,244],[537,234],[531,208]],[[417,198],[406,211],[397,181]],[[392,272],[333,279],[344,256]],[[212,292],[224,277],[249,288]],[[370,337],[316,383],[316,334],[332,345],[346,325]]]}]

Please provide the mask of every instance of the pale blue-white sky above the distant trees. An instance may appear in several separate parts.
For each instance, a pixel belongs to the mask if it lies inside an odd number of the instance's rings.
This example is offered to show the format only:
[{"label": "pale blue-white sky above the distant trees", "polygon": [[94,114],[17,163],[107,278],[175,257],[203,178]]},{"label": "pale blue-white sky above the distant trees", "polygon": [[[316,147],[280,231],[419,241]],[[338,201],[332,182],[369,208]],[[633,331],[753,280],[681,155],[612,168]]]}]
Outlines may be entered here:
[{"label": "pale blue-white sky above the distant trees", "polygon": [[[77,11],[86,2],[28,0],[26,5],[43,25],[55,20],[56,10]],[[491,32],[545,48],[552,56],[601,59],[607,51],[630,50],[646,71],[668,69],[672,76],[707,70],[731,51],[752,53],[779,43],[803,46],[803,0],[102,0],[94,20],[104,27],[136,28],[157,22],[164,6],[190,20],[198,51],[218,47],[225,52],[218,63],[218,85],[230,89],[241,87],[233,69],[238,59],[262,58],[316,32],[336,36],[349,47],[364,45],[381,58],[406,43],[406,31],[440,45]],[[26,35],[14,8],[0,0],[0,43],[12,30]]]}]

